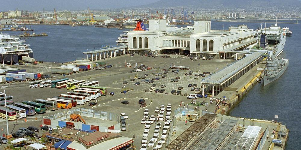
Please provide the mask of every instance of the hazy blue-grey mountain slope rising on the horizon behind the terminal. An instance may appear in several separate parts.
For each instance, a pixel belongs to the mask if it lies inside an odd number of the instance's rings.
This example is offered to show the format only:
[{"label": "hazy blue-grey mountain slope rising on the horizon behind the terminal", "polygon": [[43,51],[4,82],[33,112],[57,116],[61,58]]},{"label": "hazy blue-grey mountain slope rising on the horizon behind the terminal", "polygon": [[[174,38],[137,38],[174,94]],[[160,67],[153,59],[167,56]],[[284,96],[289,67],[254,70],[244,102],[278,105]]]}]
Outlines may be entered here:
[{"label": "hazy blue-grey mountain slope rising on the horizon behind the terminal", "polygon": [[208,9],[233,9],[247,7],[279,7],[287,8],[289,6],[300,7],[301,1],[298,0],[160,0],[141,7],[191,7]]}]

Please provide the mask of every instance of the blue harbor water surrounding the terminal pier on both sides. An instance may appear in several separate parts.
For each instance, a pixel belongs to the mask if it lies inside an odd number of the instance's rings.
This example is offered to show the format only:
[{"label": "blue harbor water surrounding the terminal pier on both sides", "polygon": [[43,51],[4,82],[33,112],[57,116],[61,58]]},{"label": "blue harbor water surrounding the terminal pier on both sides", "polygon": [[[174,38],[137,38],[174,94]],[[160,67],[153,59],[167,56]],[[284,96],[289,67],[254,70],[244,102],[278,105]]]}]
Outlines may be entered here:
[{"label": "blue harbor water surrounding the terminal pier on both sides", "polygon": [[[288,22],[285,20],[283,22]],[[271,22],[271,20],[268,20]],[[281,22],[281,21],[278,21]],[[296,21],[291,21],[296,22]],[[245,24],[250,29],[257,29],[261,23],[254,22],[215,22],[212,21],[212,30],[227,30],[229,26]],[[266,26],[271,26],[267,23]],[[264,23],[262,24],[264,27]],[[278,115],[278,122],[287,125],[290,130],[286,149],[300,149],[301,137],[301,89],[300,70],[301,58],[300,24],[281,24],[278,26],[289,27],[293,32],[292,37],[287,37],[283,53],[280,57],[289,59],[290,64],[285,73],[275,82],[263,86],[263,83],[255,85],[245,95],[242,101],[230,111],[231,116],[272,120]],[[96,50],[103,45],[117,46],[116,40],[124,30],[117,28],[95,28],[93,26],[48,26],[32,25],[36,34],[47,33],[47,37],[23,38],[26,44],[30,44],[34,51],[34,57],[38,61],[70,62],[76,57],[85,57],[82,52]],[[20,35],[23,32],[5,32],[11,35]]]}]

